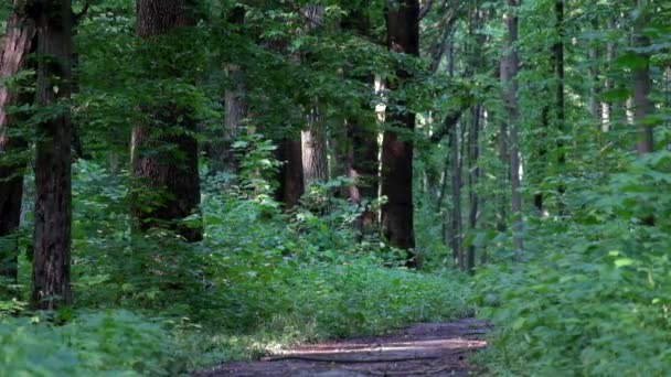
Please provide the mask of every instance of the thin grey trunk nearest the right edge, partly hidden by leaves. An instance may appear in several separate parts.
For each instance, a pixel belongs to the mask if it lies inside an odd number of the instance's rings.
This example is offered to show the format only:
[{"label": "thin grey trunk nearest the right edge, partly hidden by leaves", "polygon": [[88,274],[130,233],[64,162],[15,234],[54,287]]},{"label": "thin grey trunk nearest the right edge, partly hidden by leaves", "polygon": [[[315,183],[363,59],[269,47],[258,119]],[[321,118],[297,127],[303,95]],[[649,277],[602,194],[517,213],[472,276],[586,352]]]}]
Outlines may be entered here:
[{"label": "thin grey trunk nearest the right edge, partly hidden by leaves", "polygon": [[[648,22],[647,1],[638,0],[640,14],[633,23],[633,45],[645,49],[650,45],[650,39],[643,34],[643,28]],[[639,128],[639,138],[636,150],[639,154],[650,153],[654,148],[652,126],[646,122],[647,118],[654,111],[654,105],[650,99],[650,55],[639,53],[646,62],[633,69],[633,122]]]}]

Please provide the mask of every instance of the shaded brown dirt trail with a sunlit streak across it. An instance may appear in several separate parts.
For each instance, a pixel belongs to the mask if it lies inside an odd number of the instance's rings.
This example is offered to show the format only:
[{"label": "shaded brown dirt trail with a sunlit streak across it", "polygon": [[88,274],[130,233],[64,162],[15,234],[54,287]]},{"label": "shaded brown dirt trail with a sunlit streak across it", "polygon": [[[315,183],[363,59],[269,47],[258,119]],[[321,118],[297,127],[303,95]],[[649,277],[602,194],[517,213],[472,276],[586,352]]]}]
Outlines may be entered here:
[{"label": "shaded brown dirt trail with a sunlit streak across it", "polygon": [[472,376],[480,370],[467,363],[467,356],[487,346],[482,337],[489,330],[488,324],[473,319],[423,323],[388,336],[305,345],[195,376]]}]

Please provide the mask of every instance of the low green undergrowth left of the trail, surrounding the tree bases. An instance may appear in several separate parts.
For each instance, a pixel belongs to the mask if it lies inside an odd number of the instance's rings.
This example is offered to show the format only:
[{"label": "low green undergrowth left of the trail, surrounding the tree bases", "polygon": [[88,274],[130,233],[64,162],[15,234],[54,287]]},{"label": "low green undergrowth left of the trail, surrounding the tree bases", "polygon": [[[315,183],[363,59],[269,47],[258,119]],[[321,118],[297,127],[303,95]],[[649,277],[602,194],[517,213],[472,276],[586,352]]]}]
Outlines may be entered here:
[{"label": "low green undergrowth left of the trail, surrounding the tree bases", "polygon": [[[77,162],[76,306],[31,313],[24,281],[13,301],[0,301],[0,376],[185,374],[472,312],[459,272],[408,271],[398,250],[373,237],[360,243],[349,224],[355,206],[306,197],[309,206],[285,213],[263,182],[251,184],[210,177],[205,239],[185,244],[168,231],[134,235],[123,179]],[[316,195],[328,196],[321,188]],[[331,211],[315,206],[329,201]]]}]

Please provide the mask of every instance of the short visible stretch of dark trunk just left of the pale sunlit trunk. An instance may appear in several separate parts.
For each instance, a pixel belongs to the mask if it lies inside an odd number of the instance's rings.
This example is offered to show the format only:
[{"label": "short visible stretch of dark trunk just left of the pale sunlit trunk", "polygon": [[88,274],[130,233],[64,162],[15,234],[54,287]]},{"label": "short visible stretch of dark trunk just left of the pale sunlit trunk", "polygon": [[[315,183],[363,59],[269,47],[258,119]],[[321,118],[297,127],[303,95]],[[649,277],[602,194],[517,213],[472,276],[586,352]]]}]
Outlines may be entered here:
[{"label": "short visible stretch of dark trunk just left of the pale sunlit trunk", "polygon": [[305,192],[302,179],[302,147],[300,140],[287,139],[279,142],[276,158],[283,162],[279,170],[279,187],[275,198],[291,208],[298,204]]}]

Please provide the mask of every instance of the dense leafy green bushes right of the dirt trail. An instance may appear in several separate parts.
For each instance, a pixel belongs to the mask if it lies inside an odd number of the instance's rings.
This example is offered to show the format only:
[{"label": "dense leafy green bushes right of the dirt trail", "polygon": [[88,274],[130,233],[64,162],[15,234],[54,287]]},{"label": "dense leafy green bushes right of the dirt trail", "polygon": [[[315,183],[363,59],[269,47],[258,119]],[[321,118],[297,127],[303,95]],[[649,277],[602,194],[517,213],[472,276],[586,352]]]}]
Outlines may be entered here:
[{"label": "dense leafy green bushes right of the dirt trail", "polygon": [[[480,314],[497,325],[497,375],[663,376],[671,367],[668,250],[671,154],[635,161],[576,194],[571,222],[539,222],[520,266],[479,276]],[[654,226],[649,223],[654,215]]]}]

